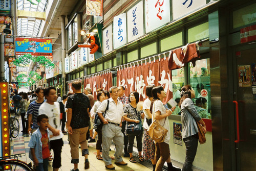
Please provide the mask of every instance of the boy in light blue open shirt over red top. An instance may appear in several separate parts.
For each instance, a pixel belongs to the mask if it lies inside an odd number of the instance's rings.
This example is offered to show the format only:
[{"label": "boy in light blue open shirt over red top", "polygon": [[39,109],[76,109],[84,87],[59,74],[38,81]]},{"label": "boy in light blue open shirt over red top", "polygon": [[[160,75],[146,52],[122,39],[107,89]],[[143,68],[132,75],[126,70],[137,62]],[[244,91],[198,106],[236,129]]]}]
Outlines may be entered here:
[{"label": "boy in light blue open shirt over red top", "polygon": [[49,146],[49,118],[45,114],[38,115],[39,128],[32,134],[29,141],[29,158],[33,160],[37,171],[48,171],[50,146]]}]

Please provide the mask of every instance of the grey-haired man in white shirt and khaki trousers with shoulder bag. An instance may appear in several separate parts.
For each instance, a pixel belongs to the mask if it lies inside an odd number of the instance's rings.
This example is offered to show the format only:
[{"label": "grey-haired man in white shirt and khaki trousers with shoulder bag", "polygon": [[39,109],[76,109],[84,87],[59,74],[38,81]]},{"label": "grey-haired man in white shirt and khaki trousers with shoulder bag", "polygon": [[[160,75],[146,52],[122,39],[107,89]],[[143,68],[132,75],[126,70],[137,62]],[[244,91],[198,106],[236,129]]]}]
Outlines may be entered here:
[{"label": "grey-haired man in white shirt and khaki trousers with shoulder bag", "polygon": [[[119,90],[117,86],[113,86],[109,90],[111,98],[109,99],[109,109],[106,110],[108,100],[104,100],[97,113],[99,118],[103,122],[102,127],[102,158],[107,169],[115,169],[111,163],[111,157],[109,156],[109,149],[111,141],[114,140],[116,144],[115,151],[115,164],[127,165],[121,157],[123,150],[123,133],[121,131],[122,118],[123,118],[123,104],[117,100],[119,96]],[[102,113],[106,111],[105,117]]]}]

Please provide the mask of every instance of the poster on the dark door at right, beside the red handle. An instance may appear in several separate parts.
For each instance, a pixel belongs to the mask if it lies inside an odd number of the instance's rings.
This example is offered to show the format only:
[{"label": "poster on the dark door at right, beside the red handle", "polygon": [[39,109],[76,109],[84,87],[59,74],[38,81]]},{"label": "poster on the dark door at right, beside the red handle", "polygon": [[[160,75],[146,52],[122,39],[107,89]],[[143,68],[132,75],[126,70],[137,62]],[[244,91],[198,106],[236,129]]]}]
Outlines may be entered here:
[{"label": "poster on the dark door at right, beside the red handle", "polygon": [[238,66],[239,74],[239,87],[250,87],[251,86],[251,66],[240,65]]}]

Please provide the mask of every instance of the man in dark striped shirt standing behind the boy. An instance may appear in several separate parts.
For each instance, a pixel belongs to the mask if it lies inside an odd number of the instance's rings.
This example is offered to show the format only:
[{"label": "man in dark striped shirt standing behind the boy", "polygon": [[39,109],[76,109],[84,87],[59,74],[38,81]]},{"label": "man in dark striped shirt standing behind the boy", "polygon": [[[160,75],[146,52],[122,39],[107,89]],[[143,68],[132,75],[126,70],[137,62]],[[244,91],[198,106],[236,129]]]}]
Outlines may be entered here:
[{"label": "man in dark striped shirt standing behind the boy", "polygon": [[[44,99],[44,89],[42,87],[37,87],[35,90],[37,100],[31,102],[28,107],[28,134],[32,134],[38,128],[37,125],[37,116],[38,109],[42,103],[46,102]],[[31,123],[33,121],[33,125],[31,128]]]}]

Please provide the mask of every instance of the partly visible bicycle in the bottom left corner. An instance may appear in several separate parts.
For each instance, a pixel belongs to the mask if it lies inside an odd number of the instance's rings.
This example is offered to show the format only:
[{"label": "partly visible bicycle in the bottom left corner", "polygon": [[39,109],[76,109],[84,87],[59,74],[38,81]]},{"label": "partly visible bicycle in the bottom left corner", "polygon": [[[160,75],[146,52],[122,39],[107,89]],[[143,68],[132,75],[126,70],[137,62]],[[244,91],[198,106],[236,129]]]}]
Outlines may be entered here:
[{"label": "partly visible bicycle in the bottom left corner", "polygon": [[[20,154],[14,154],[10,156],[4,156],[0,157],[0,171],[4,170],[24,170],[24,171],[32,171],[33,169],[31,168],[31,163],[27,164],[24,161],[18,160],[19,157],[26,156],[25,153],[20,153]],[[17,159],[15,159],[17,158]]]}]

